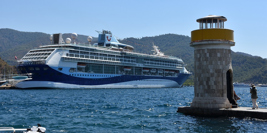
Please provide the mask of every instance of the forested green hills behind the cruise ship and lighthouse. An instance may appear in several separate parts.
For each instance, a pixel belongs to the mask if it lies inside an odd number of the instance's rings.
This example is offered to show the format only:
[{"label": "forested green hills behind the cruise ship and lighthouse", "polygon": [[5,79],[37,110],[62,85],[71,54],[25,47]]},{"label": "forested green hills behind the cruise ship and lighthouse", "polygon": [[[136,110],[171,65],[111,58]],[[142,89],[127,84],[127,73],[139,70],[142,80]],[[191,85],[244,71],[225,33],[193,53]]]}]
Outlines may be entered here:
[{"label": "forested green hills behind the cruise ship and lighthouse", "polygon": [[[51,34],[41,32],[21,32],[13,29],[0,29],[0,57],[9,65],[17,64],[15,55],[21,59],[30,49],[40,45],[49,44]],[[97,33],[95,34],[98,35]],[[115,35],[115,34],[114,34]],[[88,44],[85,35],[79,35],[76,43]],[[71,38],[71,33],[63,34],[63,40]],[[97,42],[97,37],[93,37],[91,44]],[[159,47],[165,55],[180,57],[187,64],[186,69],[194,74],[194,48],[189,46],[191,38],[179,34],[162,34],[154,37],[124,38],[118,40],[120,43],[135,47],[134,51],[152,54],[152,43]],[[73,42],[73,41],[72,41]],[[0,66],[3,70],[4,65]],[[6,66],[6,72],[8,70]],[[13,69],[11,69],[13,68]],[[267,60],[258,56],[252,56],[241,52],[232,51],[232,68],[234,82],[262,83],[267,82]],[[15,70],[14,67],[9,69]],[[194,75],[190,76],[186,82],[193,84]]]}]

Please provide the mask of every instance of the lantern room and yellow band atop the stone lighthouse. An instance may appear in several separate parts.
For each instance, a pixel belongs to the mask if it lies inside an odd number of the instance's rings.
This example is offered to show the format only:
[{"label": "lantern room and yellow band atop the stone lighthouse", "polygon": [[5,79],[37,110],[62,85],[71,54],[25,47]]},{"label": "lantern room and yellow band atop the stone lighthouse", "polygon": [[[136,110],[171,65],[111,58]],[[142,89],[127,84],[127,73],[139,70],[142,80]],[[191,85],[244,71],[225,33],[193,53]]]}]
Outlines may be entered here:
[{"label": "lantern room and yellow band atop the stone lighthouse", "polygon": [[191,31],[191,44],[199,41],[234,42],[234,31],[224,28],[227,19],[223,16],[208,15],[197,19],[199,29]]}]

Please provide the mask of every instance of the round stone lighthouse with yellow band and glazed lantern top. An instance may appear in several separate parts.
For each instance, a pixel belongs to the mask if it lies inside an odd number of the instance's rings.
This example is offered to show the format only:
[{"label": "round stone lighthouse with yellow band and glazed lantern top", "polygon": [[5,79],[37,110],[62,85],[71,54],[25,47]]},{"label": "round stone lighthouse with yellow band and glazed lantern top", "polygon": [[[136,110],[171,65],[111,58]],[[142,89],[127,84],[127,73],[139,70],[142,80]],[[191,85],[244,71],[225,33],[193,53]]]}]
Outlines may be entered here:
[{"label": "round stone lighthouse with yellow band and glazed lantern top", "polygon": [[191,31],[194,47],[194,108],[234,108],[231,47],[234,31],[225,29],[223,16],[197,19],[199,29]]}]

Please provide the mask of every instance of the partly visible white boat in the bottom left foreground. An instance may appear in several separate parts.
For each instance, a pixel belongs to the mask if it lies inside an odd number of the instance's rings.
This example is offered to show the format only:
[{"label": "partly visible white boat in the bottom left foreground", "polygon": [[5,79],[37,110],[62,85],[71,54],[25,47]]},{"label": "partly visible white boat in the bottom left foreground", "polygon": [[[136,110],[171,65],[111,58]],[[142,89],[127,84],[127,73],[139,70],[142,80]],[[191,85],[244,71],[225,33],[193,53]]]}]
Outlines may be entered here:
[{"label": "partly visible white boat in the bottom left foreground", "polygon": [[32,126],[32,128],[12,128],[12,127],[0,127],[0,131],[13,131],[15,132],[23,132],[23,133],[45,133],[46,128],[41,127],[40,124],[38,124],[38,127]]}]

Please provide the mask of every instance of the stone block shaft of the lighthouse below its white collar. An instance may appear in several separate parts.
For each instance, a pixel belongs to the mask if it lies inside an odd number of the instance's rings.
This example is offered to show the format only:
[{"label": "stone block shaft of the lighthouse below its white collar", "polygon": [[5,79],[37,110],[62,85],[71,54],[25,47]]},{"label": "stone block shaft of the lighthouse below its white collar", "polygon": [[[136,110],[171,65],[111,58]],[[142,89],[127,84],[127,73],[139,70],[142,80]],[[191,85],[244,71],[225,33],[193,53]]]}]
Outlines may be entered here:
[{"label": "stone block shaft of the lighthouse below its white collar", "polygon": [[[192,107],[228,108],[226,71],[231,65],[231,49],[194,50],[194,99]],[[232,67],[231,67],[232,68]]]}]

